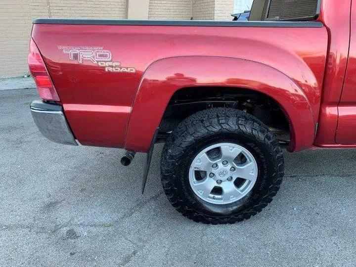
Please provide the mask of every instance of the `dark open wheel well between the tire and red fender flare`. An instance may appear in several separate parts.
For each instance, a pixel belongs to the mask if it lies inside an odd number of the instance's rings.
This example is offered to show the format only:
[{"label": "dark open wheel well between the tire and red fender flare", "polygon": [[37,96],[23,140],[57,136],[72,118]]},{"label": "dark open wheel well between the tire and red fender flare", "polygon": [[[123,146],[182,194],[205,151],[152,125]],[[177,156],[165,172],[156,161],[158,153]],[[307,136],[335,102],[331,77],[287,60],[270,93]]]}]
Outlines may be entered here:
[{"label": "dark open wheel well between the tire and red fender flare", "polygon": [[231,107],[255,116],[267,125],[282,146],[289,146],[291,127],[288,117],[273,98],[253,89],[228,87],[193,87],[176,91],[160,123],[158,141],[165,140],[186,117],[215,107]]}]

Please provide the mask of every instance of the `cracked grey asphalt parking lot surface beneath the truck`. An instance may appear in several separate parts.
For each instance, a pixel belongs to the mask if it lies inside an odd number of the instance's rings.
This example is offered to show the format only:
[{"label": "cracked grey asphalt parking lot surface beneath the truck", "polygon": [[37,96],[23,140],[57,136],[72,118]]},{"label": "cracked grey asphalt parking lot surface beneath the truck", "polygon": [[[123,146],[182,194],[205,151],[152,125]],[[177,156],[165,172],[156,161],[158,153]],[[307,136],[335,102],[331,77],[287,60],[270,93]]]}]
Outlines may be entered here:
[{"label": "cracked grey asphalt parking lot surface beneath the truck", "polygon": [[[356,266],[356,150],[285,153],[274,201],[231,225],[194,223],[170,205],[156,145],[145,157],[43,137],[35,89],[0,91],[0,266]],[[88,129],[90,131],[90,129]]]}]

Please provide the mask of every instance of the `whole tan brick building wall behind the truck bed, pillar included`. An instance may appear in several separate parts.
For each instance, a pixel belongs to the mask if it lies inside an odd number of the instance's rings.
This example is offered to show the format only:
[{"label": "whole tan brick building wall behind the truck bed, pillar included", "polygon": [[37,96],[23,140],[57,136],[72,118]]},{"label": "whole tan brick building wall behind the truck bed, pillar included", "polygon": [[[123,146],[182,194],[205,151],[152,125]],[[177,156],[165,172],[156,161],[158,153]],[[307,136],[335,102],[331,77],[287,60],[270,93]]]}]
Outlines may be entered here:
[{"label": "whole tan brick building wall behind the truck bed, pillar included", "polygon": [[[129,14],[129,18],[142,19],[148,16],[149,19],[189,20],[193,17],[196,20],[230,20],[229,14],[232,13],[234,2],[234,0],[149,0],[148,4],[147,1],[1,0],[0,78],[19,77],[29,73],[28,46],[32,20],[35,18],[125,19]],[[142,8],[146,10],[141,10]],[[144,17],[140,17],[142,14]]]}]

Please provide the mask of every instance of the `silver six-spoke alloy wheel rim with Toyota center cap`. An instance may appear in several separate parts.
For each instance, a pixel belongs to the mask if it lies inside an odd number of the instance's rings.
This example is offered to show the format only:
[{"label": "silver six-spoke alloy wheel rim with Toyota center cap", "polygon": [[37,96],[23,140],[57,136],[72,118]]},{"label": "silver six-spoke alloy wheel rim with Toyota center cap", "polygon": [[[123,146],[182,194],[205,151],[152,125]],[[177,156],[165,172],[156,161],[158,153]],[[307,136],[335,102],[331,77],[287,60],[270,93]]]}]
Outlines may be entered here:
[{"label": "silver six-spoke alloy wheel rim with Toyota center cap", "polygon": [[189,183],[197,197],[225,205],[246,196],[257,174],[258,165],[249,150],[234,143],[216,143],[202,149],[191,161]]}]

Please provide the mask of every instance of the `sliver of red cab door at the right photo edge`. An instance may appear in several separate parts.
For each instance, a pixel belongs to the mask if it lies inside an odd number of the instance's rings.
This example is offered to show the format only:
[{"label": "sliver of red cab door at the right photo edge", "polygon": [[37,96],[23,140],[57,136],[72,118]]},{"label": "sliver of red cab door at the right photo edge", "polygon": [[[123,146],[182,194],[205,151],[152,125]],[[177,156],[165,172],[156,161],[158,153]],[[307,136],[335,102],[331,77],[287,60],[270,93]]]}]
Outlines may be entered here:
[{"label": "sliver of red cab door at the right photo edge", "polygon": [[336,132],[338,144],[356,144],[356,1],[351,7],[349,58],[344,87],[338,105],[339,121]]}]

